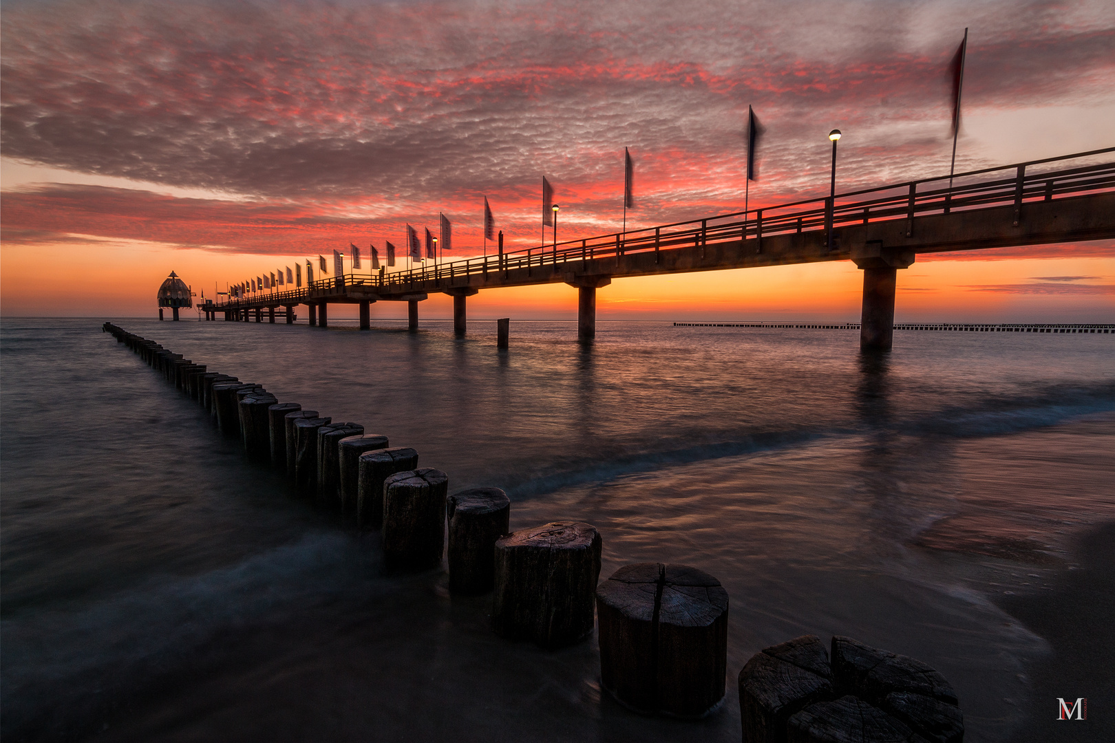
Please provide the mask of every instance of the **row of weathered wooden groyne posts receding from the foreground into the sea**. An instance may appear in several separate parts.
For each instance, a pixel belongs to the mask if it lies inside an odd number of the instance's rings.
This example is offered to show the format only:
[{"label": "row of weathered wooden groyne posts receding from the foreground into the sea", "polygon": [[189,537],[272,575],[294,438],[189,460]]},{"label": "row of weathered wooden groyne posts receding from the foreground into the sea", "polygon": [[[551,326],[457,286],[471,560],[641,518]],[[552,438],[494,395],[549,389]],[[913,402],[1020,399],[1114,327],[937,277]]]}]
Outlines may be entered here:
[{"label": "row of weathered wooden groyne posts receding from the foreground into the sea", "polygon": [[[696,718],[723,703],[728,594],[712,576],[685,565],[637,563],[601,583],[603,542],[592,525],[554,521],[511,532],[503,490],[448,495],[446,473],[419,468],[414,449],[390,447],[386,436],[366,433],[359,423],[334,423],[299,403],[279,402],[260,384],[210,371],[112,323],[103,329],[196,400],[224,436],[239,437],[250,459],[283,469],[298,492],[355,517],[360,529],[378,529],[388,570],[434,569],[445,556],[452,592],[493,592],[497,634],[545,648],[584,639],[599,619],[601,685],[637,712]],[[846,648],[859,655],[846,659]],[[956,724],[940,722],[956,723],[960,714],[951,686],[919,661],[834,638],[831,667],[813,636],[756,654],[739,674],[745,743],[844,740],[825,737],[826,725],[836,721],[843,730],[869,718],[875,727],[882,720],[880,730],[913,736],[865,741],[920,741],[915,733],[962,740],[962,716],[960,737]],[[876,668],[890,672],[875,678]],[[798,677],[803,672],[812,676]],[[906,696],[895,702],[892,692]],[[956,714],[942,713],[941,704]],[[878,720],[856,705],[870,706]],[[931,727],[948,734],[930,735]],[[791,734],[798,729],[805,732]]]}]

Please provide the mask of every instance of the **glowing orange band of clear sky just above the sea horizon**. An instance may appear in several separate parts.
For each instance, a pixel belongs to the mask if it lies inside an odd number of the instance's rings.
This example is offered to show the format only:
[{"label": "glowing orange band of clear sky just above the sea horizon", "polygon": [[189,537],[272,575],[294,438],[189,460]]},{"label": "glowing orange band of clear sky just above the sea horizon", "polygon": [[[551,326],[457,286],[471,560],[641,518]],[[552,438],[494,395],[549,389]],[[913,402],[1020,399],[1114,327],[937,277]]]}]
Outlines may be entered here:
[{"label": "glowing orange band of clear sky just above the sea horizon", "polygon": [[[1075,246],[1086,257],[921,256],[899,272],[895,319],[1115,322],[1115,261],[1094,252],[1089,255],[1090,245]],[[114,242],[110,252],[90,251],[85,244],[4,247],[0,252],[0,315],[154,316],[155,290],[166,277],[167,266],[198,296],[204,292],[210,297],[216,287],[205,285],[203,276],[254,275],[260,256],[168,250],[137,241]],[[597,316],[602,321],[857,321],[861,289],[862,274],[849,261],[618,278],[598,291]],[[419,312],[426,319],[447,319],[452,306],[448,296],[432,294]],[[306,309],[299,312],[304,316]],[[356,305],[336,305],[330,316],[355,317],[356,312]],[[486,290],[468,299],[468,315],[575,320],[576,290],[563,283]],[[405,316],[403,303],[372,305],[374,319]]]}]

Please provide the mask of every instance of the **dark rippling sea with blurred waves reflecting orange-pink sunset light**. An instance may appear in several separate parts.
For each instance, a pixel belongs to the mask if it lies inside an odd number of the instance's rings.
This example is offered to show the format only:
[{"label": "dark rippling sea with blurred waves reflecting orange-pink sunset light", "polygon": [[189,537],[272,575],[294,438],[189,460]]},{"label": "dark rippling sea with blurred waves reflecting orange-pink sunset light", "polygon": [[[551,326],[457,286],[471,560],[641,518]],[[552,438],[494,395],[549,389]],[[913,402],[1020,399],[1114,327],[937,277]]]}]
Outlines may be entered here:
[{"label": "dark rippling sea with blurred waves reflecting orange-pink sunset light", "polygon": [[[116,320],[281,401],[362,423],[586,520],[602,577],[686,563],[730,596],[728,695],[697,723],[599,688],[595,638],[488,629],[442,573],[384,577],[378,536],[246,463],[99,321],[0,325],[6,740],[739,740],[762,647],[846,634],[957,687],[1008,740],[1046,642],[998,608],[1115,518],[1115,336],[494,323],[466,341],[340,324]],[[1043,702],[1045,700],[1043,698]]]}]

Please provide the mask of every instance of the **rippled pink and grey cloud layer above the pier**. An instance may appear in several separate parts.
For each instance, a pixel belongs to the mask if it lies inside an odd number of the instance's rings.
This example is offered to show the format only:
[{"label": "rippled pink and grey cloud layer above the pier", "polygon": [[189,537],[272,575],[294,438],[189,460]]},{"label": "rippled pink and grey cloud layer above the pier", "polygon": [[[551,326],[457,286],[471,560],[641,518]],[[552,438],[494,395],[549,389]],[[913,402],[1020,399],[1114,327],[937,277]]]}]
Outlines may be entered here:
[{"label": "rippled pink and grey cloud layer above the pier", "polygon": [[[931,175],[947,167],[961,9],[969,106],[1109,100],[1103,1],[16,0],[6,157],[240,201],[39,188],[6,196],[4,226],[289,252],[438,211],[478,227],[486,194],[530,239],[545,174],[571,226],[609,232],[624,146],[633,218],[691,218],[738,208],[749,104],[768,129],[767,203],[823,190],[833,126],[851,135],[842,184]],[[961,165],[986,163],[962,151]]]}]

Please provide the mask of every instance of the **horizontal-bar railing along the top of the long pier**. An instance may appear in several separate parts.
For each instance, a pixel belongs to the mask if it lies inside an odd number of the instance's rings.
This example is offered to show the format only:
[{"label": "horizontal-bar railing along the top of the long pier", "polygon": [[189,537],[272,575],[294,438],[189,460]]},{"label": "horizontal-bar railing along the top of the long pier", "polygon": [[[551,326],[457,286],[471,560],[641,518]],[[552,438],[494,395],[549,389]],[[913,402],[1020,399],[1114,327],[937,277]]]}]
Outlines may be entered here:
[{"label": "horizontal-bar railing along the top of the long pier", "polygon": [[435,287],[440,286],[443,282],[448,287],[458,280],[476,275],[487,276],[520,268],[525,268],[530,275],[534,267],[576,264],[607,257],[619,258],[634,253],[658,253],[672,247],[701,246],[739,239],[756,239],[757,250],[762,252],[765,236],[814,231],[827,233],[853,224],[894,219],[908,222],[909,235],[915,216],[1010,205],[1015,207],[1014,216],[1017,225],[1021,205],[1026,202],[1048,202],[1115,190],[1115,162],[1049,169],[1050,165],[1113,151],[1115,147],[1107,147],[970,170],[953,176],[909,180],[837,194],[835,197],[804,199],[700,219],[562,241],[556,244],[541,244],[503,254],[445,263],[424,263],[395,273],[381,271],[370,275],[343,274],[317,280],[306,289],[253,292],[243,297],[230,299],[220,306],[237,307],[244,304],[258,306],[263,302],[275,305],[298,304],[313,299],[314,295],[324,299],[338,291],[356,287],[401,294],[411,290],[417,291],[429,281],[434,282]]}]

